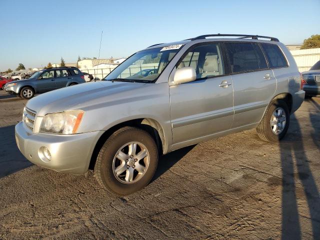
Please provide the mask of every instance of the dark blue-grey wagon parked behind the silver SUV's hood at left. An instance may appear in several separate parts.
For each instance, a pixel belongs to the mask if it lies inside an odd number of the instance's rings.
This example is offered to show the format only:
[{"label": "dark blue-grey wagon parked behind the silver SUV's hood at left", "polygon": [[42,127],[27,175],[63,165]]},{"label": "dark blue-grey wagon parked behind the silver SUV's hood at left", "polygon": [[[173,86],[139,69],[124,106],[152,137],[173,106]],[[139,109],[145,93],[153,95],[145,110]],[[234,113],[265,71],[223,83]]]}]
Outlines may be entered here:
[{"label": "dark blue-grey wagon parked behind the silver SUV's hood at left", "polygon": [[30,99],[35,93],[47,92],[85,82],[83,73],[76,67],[52,67],[33,73],[28,79],[6,83],[9,94]]}]

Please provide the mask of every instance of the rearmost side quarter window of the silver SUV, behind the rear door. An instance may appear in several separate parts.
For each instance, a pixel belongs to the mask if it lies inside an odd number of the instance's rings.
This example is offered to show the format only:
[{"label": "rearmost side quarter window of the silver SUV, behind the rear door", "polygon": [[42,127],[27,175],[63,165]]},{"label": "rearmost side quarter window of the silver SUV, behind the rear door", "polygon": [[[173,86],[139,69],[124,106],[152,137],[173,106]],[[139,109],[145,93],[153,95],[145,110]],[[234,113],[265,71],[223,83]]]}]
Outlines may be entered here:
[{"label": "rearmost side quarter window of the silver SUV, behind the rear door", "polygon": [[280,50],[279,46],[270,43],[260,43],[268,59],[270,68],[286,67],[288,63]]}]

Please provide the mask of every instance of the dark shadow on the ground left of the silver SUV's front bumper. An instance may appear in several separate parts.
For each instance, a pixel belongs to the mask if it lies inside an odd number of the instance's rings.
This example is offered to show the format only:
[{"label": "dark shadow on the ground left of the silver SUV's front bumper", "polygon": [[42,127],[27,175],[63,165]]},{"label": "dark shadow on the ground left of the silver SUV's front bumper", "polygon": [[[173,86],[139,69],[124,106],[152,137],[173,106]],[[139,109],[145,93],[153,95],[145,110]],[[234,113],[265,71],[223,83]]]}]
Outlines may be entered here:
[{"label": "dark shadow on the ground left of the silver SUV's front bumper", "polygon": [[14,125],[0,127],[0,177],[32,165],[15,143]]}]

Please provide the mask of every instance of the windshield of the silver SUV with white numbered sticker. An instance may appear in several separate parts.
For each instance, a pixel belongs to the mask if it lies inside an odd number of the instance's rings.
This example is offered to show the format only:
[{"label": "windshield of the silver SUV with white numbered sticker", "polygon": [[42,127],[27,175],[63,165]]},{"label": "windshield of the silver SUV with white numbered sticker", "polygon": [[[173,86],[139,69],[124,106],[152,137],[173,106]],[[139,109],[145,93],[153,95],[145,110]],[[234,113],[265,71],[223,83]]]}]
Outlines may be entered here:
[{"label": "windshield of the silver SUV with white numbered sticker", "polygon": [[104,80],[153,82],[182,45],[156,47],[134,53]]}]

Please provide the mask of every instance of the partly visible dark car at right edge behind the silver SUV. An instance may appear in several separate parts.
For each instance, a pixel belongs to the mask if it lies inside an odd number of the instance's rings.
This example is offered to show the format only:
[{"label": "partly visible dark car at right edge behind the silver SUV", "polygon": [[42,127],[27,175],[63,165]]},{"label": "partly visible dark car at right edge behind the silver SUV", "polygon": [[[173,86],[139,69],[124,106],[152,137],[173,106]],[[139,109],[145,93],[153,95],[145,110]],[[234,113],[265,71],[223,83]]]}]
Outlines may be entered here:
[{"label": "partly visible dark car at right edge behind the silver SUV", "polygon": [[305,98],[320,96],[320,60],[310,70],[304,71],[301,74]]}]

